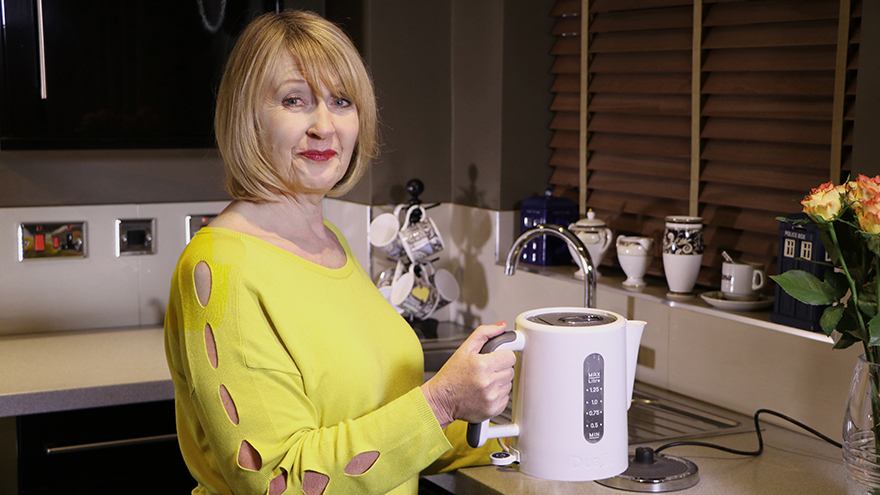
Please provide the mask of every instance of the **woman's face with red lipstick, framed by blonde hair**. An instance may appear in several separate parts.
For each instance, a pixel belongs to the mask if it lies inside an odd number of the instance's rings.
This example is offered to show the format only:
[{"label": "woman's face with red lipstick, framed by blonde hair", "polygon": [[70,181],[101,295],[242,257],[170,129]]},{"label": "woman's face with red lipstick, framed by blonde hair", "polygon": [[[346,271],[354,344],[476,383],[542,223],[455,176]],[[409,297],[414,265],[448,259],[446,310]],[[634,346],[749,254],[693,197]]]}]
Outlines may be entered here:
[{"label": "woman's face with red lipstick, framed by blonde hair", "polygon": [[354,103],[321,86],[312,92],[290,55],[271,79],[260,109],[273,165],[300,190],[323,195],[345,175],[358,136]]}]

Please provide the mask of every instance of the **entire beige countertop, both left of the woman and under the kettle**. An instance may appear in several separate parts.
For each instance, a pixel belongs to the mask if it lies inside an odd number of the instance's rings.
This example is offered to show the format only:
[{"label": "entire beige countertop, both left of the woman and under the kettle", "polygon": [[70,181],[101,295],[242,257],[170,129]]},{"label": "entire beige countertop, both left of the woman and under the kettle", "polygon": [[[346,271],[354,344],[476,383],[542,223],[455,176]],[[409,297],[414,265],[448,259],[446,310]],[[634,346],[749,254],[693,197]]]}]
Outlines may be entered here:
[{"label": "entire beige countertop, both left of the woman and under the kettle", "polygon": [[[38,363],[38,366],[34,364]],[[0,337],[0,417],[171,399],[161,327],[55,332]],[[664,451],[697,464],[702,494],[843,494],[840,449],[775,426],[761,417],[764,453],[742,457],[685,446]],[[701,439],[754,450],[754,432]],[[656,447],[660,443],[648,444]],[[594,482],[554,482],[515,467],[484,466],[442,475],[461,494],[625,493]]]}]

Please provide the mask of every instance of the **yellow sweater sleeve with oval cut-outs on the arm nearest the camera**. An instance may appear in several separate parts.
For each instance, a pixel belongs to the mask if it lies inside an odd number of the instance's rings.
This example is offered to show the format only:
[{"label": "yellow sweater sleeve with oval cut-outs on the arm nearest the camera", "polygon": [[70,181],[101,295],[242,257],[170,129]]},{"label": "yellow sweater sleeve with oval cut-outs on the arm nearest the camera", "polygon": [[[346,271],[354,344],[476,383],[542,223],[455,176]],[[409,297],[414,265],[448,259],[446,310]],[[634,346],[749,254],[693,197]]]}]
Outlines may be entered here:
[{"label": "yellow sweater sleeve with oval cut-outs on the arm nearest the camera", "polygon": [[[205,305],[193,276],[200,262],[211,273]],[[387,493],[412,484],[451,448],[418,387],[360,417],[322,425],[323,412],[307,394],[289,344],[277,337],[259,298],[240,284],[234,265],[206,253],[182,258],[169,308],[169,364],[175,388],[183,389],[176,393],[188,432],[181,448],[184,457],[198,452],[203,460],[195,465],[207,463],[222,476],[199,480],[216,485],[206,486],[212,492],[265,494],[270,483],[285,483],[292,493]],[[359,454],[375,461],[350,474]],[[318,488],[309,491],[304,481]]]}]

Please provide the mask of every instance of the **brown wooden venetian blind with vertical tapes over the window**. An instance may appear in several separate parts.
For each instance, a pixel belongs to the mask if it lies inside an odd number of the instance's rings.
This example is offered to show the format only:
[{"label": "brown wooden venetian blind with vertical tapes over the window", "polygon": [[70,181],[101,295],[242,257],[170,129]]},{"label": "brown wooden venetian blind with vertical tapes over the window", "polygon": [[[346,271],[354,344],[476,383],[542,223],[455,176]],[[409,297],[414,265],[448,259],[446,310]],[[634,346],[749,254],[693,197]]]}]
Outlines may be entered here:
[{"label": "brown wooden venetian blind with vertical tapes over the window", "polygon": [[[615,233],[657,240],[665,216],[702,216],[701,284],[719,283],[722,250],[776,273],[776,217],[849,169],[860,3],[584,4],[587,39],[580,0],[553,11],[555,194],[580,199]],[[662,273],[659,259],[651,271]]]}]

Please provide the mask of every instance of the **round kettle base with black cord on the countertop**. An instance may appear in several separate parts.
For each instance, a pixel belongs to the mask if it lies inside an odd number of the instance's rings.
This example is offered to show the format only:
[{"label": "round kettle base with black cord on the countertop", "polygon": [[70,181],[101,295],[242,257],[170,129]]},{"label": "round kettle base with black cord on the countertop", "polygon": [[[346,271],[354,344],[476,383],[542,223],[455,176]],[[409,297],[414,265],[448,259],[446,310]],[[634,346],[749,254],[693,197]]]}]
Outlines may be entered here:
[{"label": "round kettle base with black cord on the countertop", "polygon": [[690,488],[699,480],[699,470],[693,462],[638,447],[630,454],[626,471],[596,483],[631,492],[662,493]]}]

